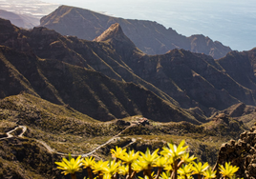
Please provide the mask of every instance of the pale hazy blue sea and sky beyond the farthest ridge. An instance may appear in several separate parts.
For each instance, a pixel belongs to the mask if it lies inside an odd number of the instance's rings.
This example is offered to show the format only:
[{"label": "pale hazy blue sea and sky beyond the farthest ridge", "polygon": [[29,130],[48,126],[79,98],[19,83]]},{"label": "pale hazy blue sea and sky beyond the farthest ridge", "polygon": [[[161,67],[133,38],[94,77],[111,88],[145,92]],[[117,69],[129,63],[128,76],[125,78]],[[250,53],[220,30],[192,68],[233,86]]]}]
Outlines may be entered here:
[{"label": "pale hazy blue sea and sky beyond the farthest ridge", "polygon": [[233,50],[256,47],[254,0],[41,0],[131,19],[157,21],[190,36],[203,34]]}]

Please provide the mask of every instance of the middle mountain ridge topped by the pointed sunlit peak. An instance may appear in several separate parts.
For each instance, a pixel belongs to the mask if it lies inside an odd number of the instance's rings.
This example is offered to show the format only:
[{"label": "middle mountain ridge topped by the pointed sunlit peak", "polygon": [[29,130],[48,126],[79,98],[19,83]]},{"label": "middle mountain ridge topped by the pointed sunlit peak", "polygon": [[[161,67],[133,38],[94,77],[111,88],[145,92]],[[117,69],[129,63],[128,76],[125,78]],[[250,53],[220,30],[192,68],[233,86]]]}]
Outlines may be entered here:
[{"label": "middle mountain ridge topped by the pointed sunlit peak", "polygon": [[[133,82],[175,106],[191,109],[199,114],[200,120],[210,116],[215,109],[225,109],[239,102],[255,105],[254,90],[227,75],[212,57],[186,50],[146,55],[125,36],[118,24],[91,42],[62,36],[45,28],[18,30],[11,23],[2,21],[0,24],[6,28],[0,44],[32,52],[41,59],[99,71],[121,82]],[[51,100],[63,104],[54,88],[48,88],[54,94]]]}]

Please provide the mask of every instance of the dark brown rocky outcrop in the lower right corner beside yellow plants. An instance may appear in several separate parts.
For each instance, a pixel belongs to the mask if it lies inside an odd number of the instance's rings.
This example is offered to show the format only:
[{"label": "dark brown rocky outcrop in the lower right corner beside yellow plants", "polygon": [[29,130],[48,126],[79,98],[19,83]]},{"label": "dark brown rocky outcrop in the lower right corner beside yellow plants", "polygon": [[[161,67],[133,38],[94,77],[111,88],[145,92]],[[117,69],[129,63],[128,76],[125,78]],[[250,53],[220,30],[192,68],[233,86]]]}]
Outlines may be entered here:
[{"label": "dark brown rocky outcrop in the lower right corner beside yellow plants", "polygon": [[255,178],[256,177],[256,127],[245,131],[240,135],[238,141],[231,140],[223,144],[217,165],[224,165],[225,162],[231,162],[233,166],[239,167],[236,172],[237,177]]}]

